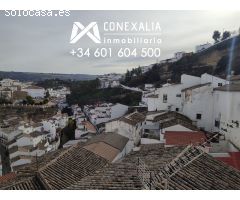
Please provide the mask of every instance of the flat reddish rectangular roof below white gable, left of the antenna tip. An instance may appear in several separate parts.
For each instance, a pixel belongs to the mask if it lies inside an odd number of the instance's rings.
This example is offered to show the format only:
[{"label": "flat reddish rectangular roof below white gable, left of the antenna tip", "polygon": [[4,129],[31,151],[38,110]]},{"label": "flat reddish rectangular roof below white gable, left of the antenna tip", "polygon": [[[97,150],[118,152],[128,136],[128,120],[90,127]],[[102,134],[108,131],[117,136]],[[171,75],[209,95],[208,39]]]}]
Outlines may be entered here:
[{"label": "flat reddish rectangular roof below white gable, left of the antenna tip", "polygon": [[186,146],[189,144],[198,145],[203,143],[207,138],[201,131],[166,131],[166,145]]}]

